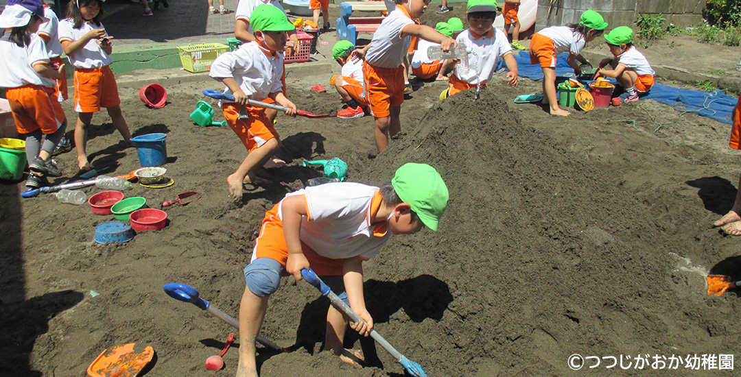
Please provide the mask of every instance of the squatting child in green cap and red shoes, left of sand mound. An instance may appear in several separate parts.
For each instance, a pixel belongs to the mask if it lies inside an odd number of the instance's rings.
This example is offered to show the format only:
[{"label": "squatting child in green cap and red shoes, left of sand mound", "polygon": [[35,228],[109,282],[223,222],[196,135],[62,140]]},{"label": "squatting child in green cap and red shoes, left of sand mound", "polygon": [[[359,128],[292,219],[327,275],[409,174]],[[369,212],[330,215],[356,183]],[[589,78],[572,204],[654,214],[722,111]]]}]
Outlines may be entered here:
[{"label": "squatting child in green cap and red shoes, left of sand mound", "polygon": [[353,61],[350,54],[355,45],[350,41],[337,41],[332,48],[332,57],[342,66],[342,74],[332,76],[329,84],[339,93],[339,98],[346,106],[337,112],[338,118],[350,119],[365,116],[363,109],[368,108],[363,85],[363,62]]}]

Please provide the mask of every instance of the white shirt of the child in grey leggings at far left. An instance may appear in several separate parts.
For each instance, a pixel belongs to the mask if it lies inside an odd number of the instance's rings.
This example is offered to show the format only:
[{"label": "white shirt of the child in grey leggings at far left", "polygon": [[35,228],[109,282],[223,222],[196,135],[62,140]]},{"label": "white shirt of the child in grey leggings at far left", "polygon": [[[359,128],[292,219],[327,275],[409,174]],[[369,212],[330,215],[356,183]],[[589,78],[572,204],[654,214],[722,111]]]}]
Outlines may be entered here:
[{"label": "white shirt of the child in grey leggings at far left", "polygon": [[33,70],[36,64],[48,64],[49,55],[44,40],[36,34],[31,34],[31,41],[26,47],[19,47],[7,38],[6,33],[0,39],[0,87],[22,87],[33,84],[42,87],[54,87],[56,81],[41,77]]}]

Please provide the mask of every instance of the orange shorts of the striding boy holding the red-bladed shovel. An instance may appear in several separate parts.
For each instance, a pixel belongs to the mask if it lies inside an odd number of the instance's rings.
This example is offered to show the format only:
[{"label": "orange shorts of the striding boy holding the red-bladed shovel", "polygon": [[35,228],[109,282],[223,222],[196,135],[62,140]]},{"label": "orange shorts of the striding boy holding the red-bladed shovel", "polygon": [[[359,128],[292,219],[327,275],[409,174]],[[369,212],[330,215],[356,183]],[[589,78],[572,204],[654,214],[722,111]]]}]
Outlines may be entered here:
[{"label": "orange shorts of the striding boy holding the red-bladed shovel", "polygon": [[234,102],[226,102],[222,104],[222,110],[224,112],[224,119],[226,119],[229,127],[239,136],[239,140],[242,140],[242,144],[245,144],[248,152],[252,152],[265,141],[280,136],[273,127],[273,123],[265,116],[265,107],[252,107],[247,106],[248,119],[239,119],[239,108],[242,107],[240,104]]}]

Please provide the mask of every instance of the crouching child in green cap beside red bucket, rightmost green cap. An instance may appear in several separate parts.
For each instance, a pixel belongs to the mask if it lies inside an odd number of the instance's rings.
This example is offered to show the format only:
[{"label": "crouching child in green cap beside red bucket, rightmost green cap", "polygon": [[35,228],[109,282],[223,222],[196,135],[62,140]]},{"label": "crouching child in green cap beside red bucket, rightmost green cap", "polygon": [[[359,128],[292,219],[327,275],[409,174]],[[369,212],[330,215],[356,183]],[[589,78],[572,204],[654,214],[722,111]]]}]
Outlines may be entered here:
[{"label": "crouching child in green cap beside red bucket, rightmost green cap", "polygon": [[[620,95],[620,99],[623,102],[638,101],[639,96],[645,95],[654,86],[654,69],[648,64],[648,59],[633,45],[633,30],[630,27],[616,27],[605,36],[605,39],[614,58],[602,59],[594,77],[617,79],[617,83],[625,88],[625,93]],[[605,70],[604,67],[608,65],[612,67],[611,70]]]}]

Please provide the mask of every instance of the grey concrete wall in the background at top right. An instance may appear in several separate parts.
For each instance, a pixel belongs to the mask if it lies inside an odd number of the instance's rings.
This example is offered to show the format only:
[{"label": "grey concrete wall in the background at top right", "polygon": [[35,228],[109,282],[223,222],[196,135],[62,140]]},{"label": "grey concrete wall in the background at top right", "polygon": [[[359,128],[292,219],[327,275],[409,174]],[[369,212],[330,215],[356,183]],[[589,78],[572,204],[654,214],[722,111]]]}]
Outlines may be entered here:
[{"label": "grey concrete wall in the background at top right", "polygon": [[539,0],[535,30],[578,23],[585,10],[597,10],[612,29],[636,27],[640,13],[662,13],[667,23],[686,27],[702,21],[705,0]]}]

